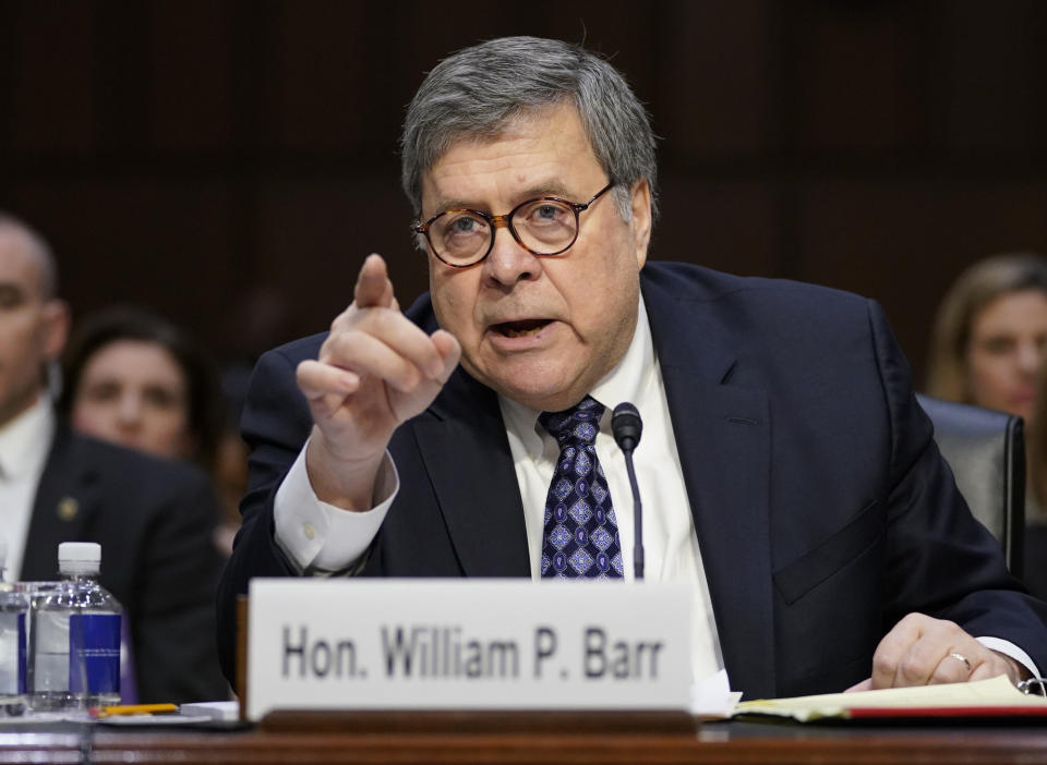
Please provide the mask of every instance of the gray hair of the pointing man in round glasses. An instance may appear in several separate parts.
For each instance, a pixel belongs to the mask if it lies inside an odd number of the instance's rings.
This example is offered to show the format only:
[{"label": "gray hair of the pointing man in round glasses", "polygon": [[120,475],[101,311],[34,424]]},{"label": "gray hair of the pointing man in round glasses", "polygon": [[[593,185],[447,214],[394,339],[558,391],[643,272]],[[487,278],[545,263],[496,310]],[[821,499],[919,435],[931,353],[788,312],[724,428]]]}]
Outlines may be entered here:
[{"label": "gray hair of the pointing man in round glasses", "polygon": [[400,136],[404,192],[422,209],[422,173],[462,138],[493,139],[513,120],[573,102],[597,160],[618,185],[624,220],[633,184],[647,179],[657,214],[654,134],[625,77],[581,46],[539,37],[502,37],[441,61],[414,94]]}]

